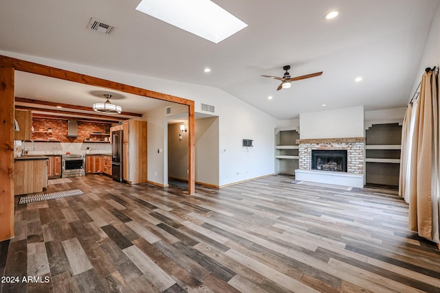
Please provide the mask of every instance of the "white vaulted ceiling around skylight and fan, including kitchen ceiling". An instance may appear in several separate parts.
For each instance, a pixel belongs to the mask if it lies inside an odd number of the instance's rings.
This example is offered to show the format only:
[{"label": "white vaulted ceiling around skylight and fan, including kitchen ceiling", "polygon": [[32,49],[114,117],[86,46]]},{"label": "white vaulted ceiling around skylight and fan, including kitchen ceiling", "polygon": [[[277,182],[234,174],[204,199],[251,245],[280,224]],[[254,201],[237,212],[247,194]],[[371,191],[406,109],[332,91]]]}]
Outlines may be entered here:
[{"label": "white vaulted ceiling around skylight and fan, including kitchen ceiling", "polygon": [[[0,50],[215,86],[273,117],[291,119],[331,108],[405,106],[439,6],[439,0],[214,0],[249,25],[214,44],[138,12],[139,2],[3,0]],[[340,16],[325,21],[322,16],[335,8]],[[91,17],[115,32],[87,30]],[[278,81],[261,75],[283,76],[283,65],[292,66],[292,77],[324,73],[276,91]],[[204,73],[205,67],[212,71]],[[357,76],[363,81],[353,82]],[[90,94],[97,89],[76,92],[81,85],[74,84],[67,94],[56,82],[58,89],[49,90],[47,82],[31,77],[17,78],[17,96],[80,106],[99,99]],[[124,111],[154,106],[130,99],[125,97]]]}]

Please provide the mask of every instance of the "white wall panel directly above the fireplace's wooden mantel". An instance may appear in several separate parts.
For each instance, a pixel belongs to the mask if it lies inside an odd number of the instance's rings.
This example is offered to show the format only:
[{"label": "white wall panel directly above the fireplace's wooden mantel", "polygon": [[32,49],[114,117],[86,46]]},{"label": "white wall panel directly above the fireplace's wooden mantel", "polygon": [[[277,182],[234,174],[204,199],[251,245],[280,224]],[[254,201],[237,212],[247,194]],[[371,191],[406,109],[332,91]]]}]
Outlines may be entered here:
[{"label": "white wall panel directly above the fireplace's wooden mantel", "polygon": [[364,106],[300,113],[300,139],[364,137]]}]

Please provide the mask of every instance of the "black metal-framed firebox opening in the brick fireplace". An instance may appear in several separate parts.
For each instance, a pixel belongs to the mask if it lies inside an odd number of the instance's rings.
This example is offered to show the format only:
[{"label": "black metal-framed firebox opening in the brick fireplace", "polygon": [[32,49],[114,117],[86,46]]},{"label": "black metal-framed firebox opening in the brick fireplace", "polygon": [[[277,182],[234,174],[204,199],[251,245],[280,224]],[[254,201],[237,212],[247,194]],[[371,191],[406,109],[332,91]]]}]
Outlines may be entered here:
[{"label": "black metal-framed firebox opening in the brick fireplace", "polygon": [[311,169],[347,172],[347,150],[311,150]]}]

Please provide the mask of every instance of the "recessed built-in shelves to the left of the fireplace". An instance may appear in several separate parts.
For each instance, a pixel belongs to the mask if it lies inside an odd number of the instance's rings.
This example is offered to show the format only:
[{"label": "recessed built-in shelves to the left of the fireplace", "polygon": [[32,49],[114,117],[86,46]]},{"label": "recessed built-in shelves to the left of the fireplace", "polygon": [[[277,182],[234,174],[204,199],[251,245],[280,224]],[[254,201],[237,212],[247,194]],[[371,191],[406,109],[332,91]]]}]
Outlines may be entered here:
[{"label": "recessed built-in shelves to the left of the fireplace", "polygon": [[294,129],[276,130],[275,134],[275,172],[295,175],[298,169],[298,148],[296,139],[300,134]]}]

